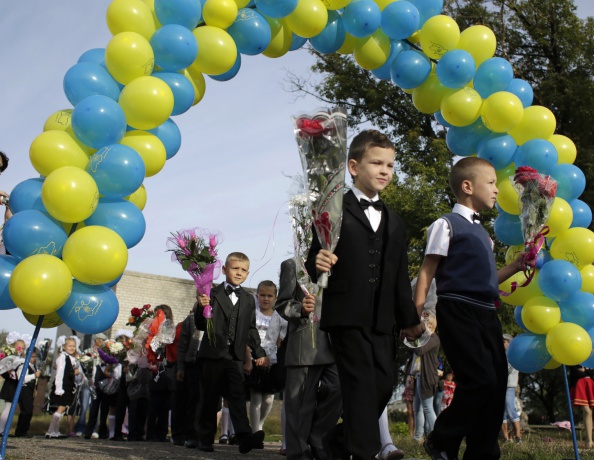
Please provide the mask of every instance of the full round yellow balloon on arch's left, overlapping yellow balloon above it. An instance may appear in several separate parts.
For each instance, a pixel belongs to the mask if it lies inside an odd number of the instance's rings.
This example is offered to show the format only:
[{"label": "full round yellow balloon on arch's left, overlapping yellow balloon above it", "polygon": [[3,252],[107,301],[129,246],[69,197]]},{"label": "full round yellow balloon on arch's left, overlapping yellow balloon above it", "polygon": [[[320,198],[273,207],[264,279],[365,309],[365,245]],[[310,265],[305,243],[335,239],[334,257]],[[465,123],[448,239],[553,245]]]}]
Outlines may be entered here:
[{"label": "full round yellow balloon on arch's left, overlapping yellow balloon above it", "polygon": [[41,199],[54,219],[80,222],[95,211],[99,202],[99,189],[86,171],[75,166],[63,166],[45,178]]}]

